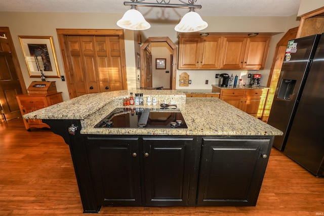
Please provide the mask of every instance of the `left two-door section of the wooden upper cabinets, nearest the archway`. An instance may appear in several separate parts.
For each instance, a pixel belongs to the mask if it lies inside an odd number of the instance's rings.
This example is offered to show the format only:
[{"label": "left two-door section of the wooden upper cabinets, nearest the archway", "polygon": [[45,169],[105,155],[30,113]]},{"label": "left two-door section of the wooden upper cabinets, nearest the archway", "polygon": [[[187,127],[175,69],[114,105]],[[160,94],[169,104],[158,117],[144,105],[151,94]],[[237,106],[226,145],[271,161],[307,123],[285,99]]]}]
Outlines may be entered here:
[{"label": "left two-door section of the wooden upper cabinets, nearest the archway", "polygon": [[180,37],[178,69],[218,69],[221,36]]}]

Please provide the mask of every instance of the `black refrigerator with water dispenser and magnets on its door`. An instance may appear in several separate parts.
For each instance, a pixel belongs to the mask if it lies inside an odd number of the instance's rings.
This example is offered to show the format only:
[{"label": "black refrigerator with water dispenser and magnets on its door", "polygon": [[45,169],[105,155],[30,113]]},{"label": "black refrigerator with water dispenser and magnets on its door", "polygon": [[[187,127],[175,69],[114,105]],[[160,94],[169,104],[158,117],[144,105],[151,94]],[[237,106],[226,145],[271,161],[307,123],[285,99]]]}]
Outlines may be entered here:
[{"label": "black refrigerator with water dispenser and magnets on its door", "polygon": [[289,41],[268,123],[275,148],[324,175],[324,34]]}]

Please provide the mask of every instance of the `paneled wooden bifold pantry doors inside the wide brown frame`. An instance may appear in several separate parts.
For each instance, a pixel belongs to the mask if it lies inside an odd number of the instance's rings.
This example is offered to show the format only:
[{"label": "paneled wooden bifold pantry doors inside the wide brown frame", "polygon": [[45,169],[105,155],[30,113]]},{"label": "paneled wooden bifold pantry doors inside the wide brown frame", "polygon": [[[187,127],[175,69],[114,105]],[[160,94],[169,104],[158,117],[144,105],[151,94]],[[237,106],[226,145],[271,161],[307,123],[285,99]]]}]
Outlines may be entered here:
[{"label": "paneled wooden bifold pantry doors inside the wide brown frame", "polygon": [[90,93],[127,89],[124,38],[102,35],[105,32],[100,30],[93,35],[69,34],[64,35],[63,32],[60,35],[58,30],[59,39],[63,38],[66,46],[62,49],[60,41],[62,56],[66,59],[64,67],[67,69],[70,99]]}]

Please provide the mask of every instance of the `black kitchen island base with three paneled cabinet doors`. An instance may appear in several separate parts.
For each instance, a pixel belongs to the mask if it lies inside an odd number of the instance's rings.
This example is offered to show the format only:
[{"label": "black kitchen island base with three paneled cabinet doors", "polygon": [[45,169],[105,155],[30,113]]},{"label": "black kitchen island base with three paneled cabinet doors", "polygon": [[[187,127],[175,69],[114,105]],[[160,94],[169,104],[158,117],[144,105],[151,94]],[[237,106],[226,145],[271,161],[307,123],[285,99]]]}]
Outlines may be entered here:
[{"label": "black kitchen island base with three paneled cabinet doors", "polygon": [[[43,120],[70,147],[85,213],[101,206],[255,206],[273,136],[82,135]],[[76,134],[69,135],[74,124]]]}]

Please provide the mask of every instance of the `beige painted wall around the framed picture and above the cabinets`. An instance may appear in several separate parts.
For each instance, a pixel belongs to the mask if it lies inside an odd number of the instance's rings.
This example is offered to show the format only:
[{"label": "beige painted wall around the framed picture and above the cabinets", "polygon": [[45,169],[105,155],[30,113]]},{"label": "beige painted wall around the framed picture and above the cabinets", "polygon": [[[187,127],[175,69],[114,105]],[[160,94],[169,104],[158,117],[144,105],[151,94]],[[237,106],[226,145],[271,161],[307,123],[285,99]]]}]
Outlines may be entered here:
[{"label": "beige painted wall around the framed picture and above the cabinets", "polygon": [[[23,73],[26,87],[31,81],[37,78],[30,78],[27,66],[20,48],[18,35],[53,36],[58,65],[61,75],[65,75],[60,47],[57,39],[57,28],[80,28],[80,29],[120,29],[116,22],[123,14],[103,13],[21,13],[21,12],[0,12],[0,26],[8,26],[13,38],[17,52],[18,61]],[[203,17],[209,23],[206,31],[215,32],[286,32],[289,17]],[[152,27],[142,31],[142,42],[150,36],[168,36],[178,45],[177,32],[174,24],[161,25],[151,23]],[[134,31],[125,30],[125,53],[128,88],[136,88],[136,76],[138,70],[135,67],[135,41]],[[135,41],[134,41],[135,40]],[[271,42],[271,49],[274,49],[275,42]],[[269,53],[270,54],[270,53]],[[270,62],[272,56],[269,55]],[[267,62],[267,69],[269,64]],[[198,72],[194,72],[198,73]],[[206,72],[203,74],[209,74]],[[201,74],[200,74],[201,75]],[[197,75],[198,76],[198,75]],[[205,75],[203,75],[205,76]],[[200,76],[199,76],[200,77]],[[206,79],[206,77],[203,77]],[[39,78],[40,80],[40,78]],[[68,100],[66,82],[60,78],[48,78],[49,81],[56,81],[57,90],[63,92],[63,100]],[[205,82],[204,82],[205,83]],[[193,87],[193,85],[191,85]],[[198,86],[197,86],[198,88]]]}]

